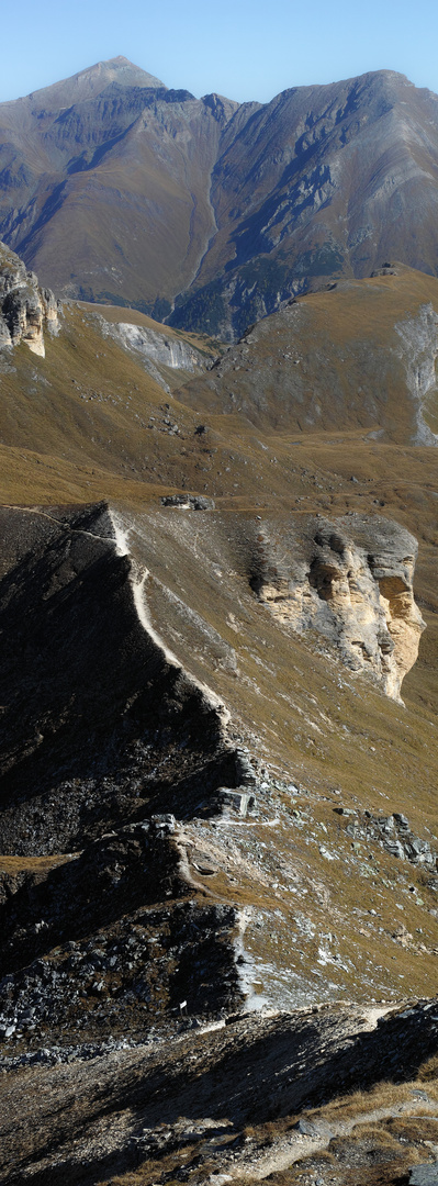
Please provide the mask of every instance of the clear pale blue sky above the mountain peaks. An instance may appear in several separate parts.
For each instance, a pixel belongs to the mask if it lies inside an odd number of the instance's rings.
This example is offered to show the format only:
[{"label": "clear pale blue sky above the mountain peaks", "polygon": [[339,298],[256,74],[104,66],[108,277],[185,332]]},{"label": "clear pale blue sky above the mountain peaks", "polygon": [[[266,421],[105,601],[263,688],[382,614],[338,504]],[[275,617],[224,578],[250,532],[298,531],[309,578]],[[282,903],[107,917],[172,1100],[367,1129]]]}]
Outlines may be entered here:
[{"label": "clear pale blue sky above the mountain peaks", "polygon": [[241,102],[380,69],[438,91],[437,40],[437,0],[20,0],[0,101],[119,53],[167,87]]}]

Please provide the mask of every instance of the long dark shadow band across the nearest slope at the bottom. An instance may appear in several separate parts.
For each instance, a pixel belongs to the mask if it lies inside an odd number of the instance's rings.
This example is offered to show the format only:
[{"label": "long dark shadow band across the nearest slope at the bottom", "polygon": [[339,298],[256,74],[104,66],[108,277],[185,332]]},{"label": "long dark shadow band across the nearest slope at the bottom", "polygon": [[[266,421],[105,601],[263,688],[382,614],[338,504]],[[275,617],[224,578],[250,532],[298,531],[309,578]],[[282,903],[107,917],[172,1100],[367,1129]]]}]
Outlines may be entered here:
[{"label": "long dark shadow band across the nearest slope at the bottom", "polygon": [[[438,1008],[438,1002],[437,1008]],[[129,1109],[137,1114],[139,1130],[154,1124],[172,1124],[184,1115],[191,1120],[205,1116],[224,1117],[235,1126],[277,1120],[303,1108],[328,1103],[336,1096],[369,1090],[385,1080],[407,1082],[415,1077],[420,1064],[437,1051],[437,1019],[434,1009],[418,1006],[407,1014],[383,1019],[376,1031],[358,1037],[330,1032],[324,1025],[324,1012],[309,1018],[287,1018],[273,1022],[271,1032],[252,1037],[240,1029],[228,1040],[228,1050],[218,1058],[210,1057],[208,1070],[199,1072],[197,1060],[183,1065],[182,1053],[176,1065],[167,1066],[169,1046],[155,1066],[147,1070],[141,1063],[120,1066],[110,1099],[94,1102],[87,1121],[75,1128],[75,1137],[87,1140],[93,1126],[103,1116],[109,1117]],[[347,1018],[347,1010],[345,1010]],[[336,1018],[335,1018],[336,1022]],[[196,1040],[191,1047],[196,1053]],[[303,1072],[301,1065],[306,1070]],[[239,1069],[239,1070],[237,1070]],[[170,1071],[173,1073],[171,1075]],[[71,1121],[65,1107],[59,1112],[56,1135],[40,1149],[39,1156],[55,1155],[69,1139]],[[145,1154],[142,1155],[145,1156]],[[63,1182],[94,1186],[107,1180],[108,1174],[127,1172],[139,1163],[134,1142],[112,1155],[97,1159],[87,1169],[63,1163]],[[27,1180],[20,1172],[11,1181]],[[38,1186],[61,1186],[59,1169],[32,1175]]]}]

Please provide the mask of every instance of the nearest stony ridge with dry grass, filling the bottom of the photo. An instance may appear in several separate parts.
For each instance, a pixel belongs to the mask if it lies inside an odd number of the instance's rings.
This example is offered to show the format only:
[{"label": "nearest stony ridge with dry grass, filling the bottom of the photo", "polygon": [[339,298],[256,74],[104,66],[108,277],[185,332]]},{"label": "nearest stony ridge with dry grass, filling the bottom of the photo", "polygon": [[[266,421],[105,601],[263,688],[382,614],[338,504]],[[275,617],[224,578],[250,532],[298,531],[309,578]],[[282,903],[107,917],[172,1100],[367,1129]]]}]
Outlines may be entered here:
[{"label": "nearest stony ridge with dry grass, filling the bottom of the photo", "polygon": [[421,1064],[436,1052],[437,1003],[230,1015],[158,1047],[100,1039],[17,1058],[0,1181],[430,1186],[436,1080]]}]

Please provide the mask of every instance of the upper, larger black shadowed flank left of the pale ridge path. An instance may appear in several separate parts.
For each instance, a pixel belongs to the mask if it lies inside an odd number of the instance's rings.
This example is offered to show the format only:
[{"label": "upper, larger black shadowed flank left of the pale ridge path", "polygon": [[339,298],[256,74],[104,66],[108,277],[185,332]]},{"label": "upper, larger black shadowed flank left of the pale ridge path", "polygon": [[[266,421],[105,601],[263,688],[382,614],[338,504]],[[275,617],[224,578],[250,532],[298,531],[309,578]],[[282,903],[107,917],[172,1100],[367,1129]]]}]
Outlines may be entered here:
[{"label": "upper, larger black shadowed flank left of the pale ridge path", "polygon": [[0,514],[4,852],[83,848],[235,785],[221,704],[140,620],[104,504]]}]

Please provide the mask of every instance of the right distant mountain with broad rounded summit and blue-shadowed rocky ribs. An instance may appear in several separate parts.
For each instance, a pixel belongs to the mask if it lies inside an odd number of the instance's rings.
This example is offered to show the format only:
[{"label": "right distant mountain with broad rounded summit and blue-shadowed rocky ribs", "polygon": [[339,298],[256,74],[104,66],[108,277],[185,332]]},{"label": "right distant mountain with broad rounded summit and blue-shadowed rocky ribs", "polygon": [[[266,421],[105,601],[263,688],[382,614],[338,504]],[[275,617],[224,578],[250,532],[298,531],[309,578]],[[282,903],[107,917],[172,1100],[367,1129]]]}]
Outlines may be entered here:
[{"label": "right distant mountain with broad rounded summit and blue-shadowed rocky ribs", "polygon": [[437,96],[383,70],[248,116],[214,170],[218,232],[174,324],[229,338],[323,278],[386,259],[437,273]]}]

